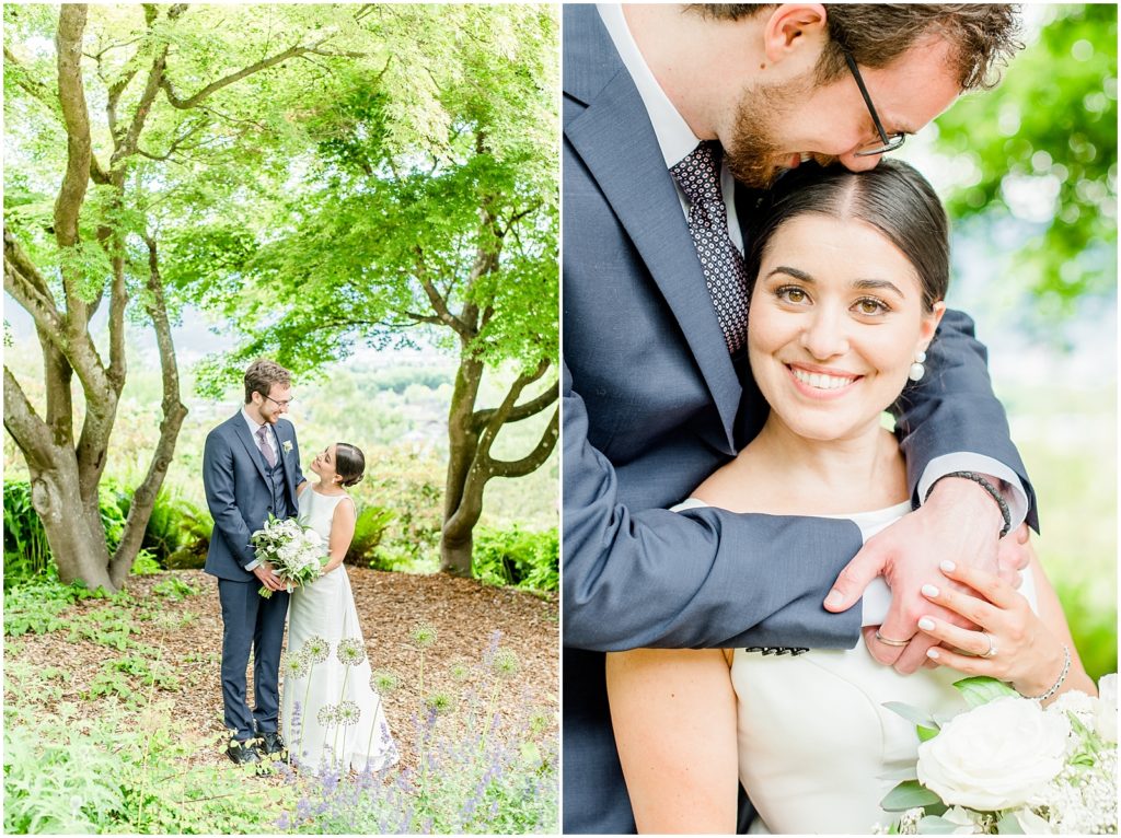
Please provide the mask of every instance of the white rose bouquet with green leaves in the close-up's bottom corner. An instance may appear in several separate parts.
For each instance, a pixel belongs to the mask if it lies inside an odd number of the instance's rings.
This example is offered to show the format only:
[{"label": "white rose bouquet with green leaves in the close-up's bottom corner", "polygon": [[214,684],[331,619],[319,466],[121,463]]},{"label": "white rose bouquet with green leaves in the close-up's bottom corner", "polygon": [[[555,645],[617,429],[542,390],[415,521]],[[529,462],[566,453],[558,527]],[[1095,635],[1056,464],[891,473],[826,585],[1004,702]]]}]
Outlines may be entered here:
[{"label": "white rose bouquet with green leaves in the close-up's bottom corner", "polygon": [[891,835],[1115,835],[1117,676],[1101,698],[1071,691],[1046,709],[993,678],[955,685],[969,710],[935,719],[884,705],[918,729],[918,763],[880,802]]}]

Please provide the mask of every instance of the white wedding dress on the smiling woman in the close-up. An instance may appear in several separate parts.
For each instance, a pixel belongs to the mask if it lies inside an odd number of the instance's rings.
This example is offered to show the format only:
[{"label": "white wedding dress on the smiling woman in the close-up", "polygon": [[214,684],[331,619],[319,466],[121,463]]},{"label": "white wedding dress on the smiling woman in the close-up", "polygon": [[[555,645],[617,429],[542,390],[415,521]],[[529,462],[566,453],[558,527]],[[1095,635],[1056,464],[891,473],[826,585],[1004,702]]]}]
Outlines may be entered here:
[{"label": "white wedding dress on the smiling woman in the close-up", "polygon": [[[676,509],[703,506],[695,499]],[[902,503],[847,518],[867,541],[904,514]],[[876,583],[886,585],[882,578]],[[1031,574],[1020,593],[1036,607]],[[883,592],[880,592],[881,594]],[[762,654],[736,649],[732,685],[738,699],[740,782],[759,817],[752,834],[868,834],[892,816],[880,801],[912,767],[915,725],[887,709],[900,701],[932,714],[965,709],[948,667],[901,676],[876,662],[863,636],[855,649]]]}]

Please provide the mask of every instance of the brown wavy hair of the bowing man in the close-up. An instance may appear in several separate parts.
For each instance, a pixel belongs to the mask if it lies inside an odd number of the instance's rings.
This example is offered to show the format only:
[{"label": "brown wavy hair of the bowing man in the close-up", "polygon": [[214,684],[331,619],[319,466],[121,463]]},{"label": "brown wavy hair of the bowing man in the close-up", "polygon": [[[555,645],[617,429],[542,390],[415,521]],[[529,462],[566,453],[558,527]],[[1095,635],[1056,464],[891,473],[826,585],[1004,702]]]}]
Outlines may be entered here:
[{"label": "brown wavy hair of the bowing man in the close-up", "polygon": [[[775,3],[691,3],[713,20],[739,20],[775,10]],[[953,47],[963,91],[990,90],[1001,67],[1023,48],[1018,7],[1009,3],[825,3],[830,43],[822,50],[816,82],[828,84],[849,72],[843,49],[862,67],[886,67],[927,36]]]}]

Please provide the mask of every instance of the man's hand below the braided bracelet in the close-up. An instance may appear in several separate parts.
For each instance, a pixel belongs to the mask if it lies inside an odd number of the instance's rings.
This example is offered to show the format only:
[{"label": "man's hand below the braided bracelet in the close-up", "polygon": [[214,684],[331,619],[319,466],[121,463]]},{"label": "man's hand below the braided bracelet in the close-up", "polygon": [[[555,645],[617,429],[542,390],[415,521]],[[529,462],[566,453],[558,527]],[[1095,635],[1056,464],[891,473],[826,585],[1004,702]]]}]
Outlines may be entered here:
[{"label": "man's hand below the braided bracelet in the close-up", "polygon": [[981,486],[961,478],[939,481],[920,509],[869,539],[841,571],[825,607],[832,612],[851,607],[868,584],[882,574],[892,597],[880,636],[900,644],[890,645],[872,636],[868,649],[881,663],[910,674],[926,662],[926,650],[936,645],[933,637],[918,632],[919,617],[932,615],[963,627],[970,625],[923,596],[923,586],[947,584],[938,569],[946,559],[997,572],[1002,525],[1000,510]]}]

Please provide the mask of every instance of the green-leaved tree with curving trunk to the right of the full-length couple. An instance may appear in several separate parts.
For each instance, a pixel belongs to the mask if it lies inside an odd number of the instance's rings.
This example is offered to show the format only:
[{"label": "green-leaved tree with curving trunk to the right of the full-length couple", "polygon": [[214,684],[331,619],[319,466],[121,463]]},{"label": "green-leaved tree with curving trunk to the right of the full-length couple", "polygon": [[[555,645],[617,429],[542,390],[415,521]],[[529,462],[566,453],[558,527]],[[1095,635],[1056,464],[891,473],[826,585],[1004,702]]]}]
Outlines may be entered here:
[{"label": "green-leaved tree with curving trunk to the right of the full-length couple", "polygon": [[[539,467],[558,436],[557,103],[548,7],[369,7],[367,25],[414,35],[376,75],[334,74],[299,114],[314,153],[253,241],[195,231],[185,287],[243,336],[220,381],[268,354],[294,370],[356,342],[435,334],[458,354],[448,413],[441,564],[470,576],[487,483]],[[428,119],[402,125],[416,100]],[[220,263],[221,270],[206,266]],[[237,285],[230,277],[235,276]],[[518,374],[480,407],[487,369]],[[548,383],[539,382],[548,378]],[[492,455],[501,429],[552,409],[532,450]]]}]

